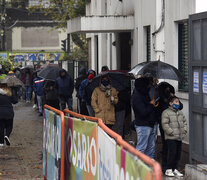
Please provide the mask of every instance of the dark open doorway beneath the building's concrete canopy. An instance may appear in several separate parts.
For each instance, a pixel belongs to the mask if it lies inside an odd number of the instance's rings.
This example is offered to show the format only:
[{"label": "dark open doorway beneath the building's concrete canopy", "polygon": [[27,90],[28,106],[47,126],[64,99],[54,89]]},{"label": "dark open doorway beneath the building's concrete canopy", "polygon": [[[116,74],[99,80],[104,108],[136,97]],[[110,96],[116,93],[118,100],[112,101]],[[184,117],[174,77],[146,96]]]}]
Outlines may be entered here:
[{"label": "dark open doorway beneath the building's concrete canopy", "polygon": [[131,33],[122,32],[119,33],[120,39],[120,69],[131,69]]}]

